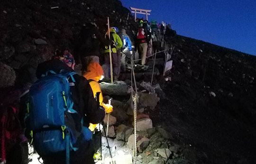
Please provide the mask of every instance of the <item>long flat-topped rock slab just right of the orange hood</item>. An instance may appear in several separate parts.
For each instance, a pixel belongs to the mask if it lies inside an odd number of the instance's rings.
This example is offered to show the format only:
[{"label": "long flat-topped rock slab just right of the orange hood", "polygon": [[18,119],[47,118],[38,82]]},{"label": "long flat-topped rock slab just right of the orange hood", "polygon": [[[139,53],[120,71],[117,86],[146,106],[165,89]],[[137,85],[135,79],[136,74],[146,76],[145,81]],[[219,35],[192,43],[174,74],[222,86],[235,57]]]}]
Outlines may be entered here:
[{"label": "long flat-topped rock slab just right of the orange hood", "polygon": [[101,82],[101,91],[104,95],[127,96],[132,92],[132,88],[123,84],[111,84]]}]

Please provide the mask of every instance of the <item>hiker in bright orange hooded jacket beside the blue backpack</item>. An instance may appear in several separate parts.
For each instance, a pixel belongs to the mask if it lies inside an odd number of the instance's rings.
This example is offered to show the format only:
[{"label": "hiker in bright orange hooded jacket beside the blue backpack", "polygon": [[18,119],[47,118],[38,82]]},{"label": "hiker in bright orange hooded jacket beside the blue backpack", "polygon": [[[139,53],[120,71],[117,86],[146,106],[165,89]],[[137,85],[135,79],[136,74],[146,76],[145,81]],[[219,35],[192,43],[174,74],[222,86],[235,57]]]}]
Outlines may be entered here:
[{"label": "hiker in bright orange hooded jacket beside the blue backpack", "polygon": [[[104,107],[106,113],[111,113],[113,111],[113,107],[109,104],[105,104],[103,102],[103,96],[101,92],[101,86],[99,84],[99,81],[103,79],[103,69],[101,65],[99,65],[96,62],[90,63],[87,67],[86,72],[83,74],[83,77],[87,79],[91,86],[91,90],[93,92],[93,95],[96,96],[97,93],[100,93],[99,95],[99,103],[102,107]],[[97,124],[90,123],[89,129],[91,131],[94,131]]]}]

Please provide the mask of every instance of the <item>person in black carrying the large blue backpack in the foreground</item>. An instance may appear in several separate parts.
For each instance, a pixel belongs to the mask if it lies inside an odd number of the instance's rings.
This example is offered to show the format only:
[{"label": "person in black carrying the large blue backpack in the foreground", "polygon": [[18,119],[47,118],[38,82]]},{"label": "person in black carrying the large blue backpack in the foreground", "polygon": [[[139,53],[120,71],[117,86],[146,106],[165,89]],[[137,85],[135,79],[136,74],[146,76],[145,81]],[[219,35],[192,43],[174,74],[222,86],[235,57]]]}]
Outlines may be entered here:
[{"label": "person in black carrying the large blue backpack in the foreground", "polygon": [[73,56],[64,50],[63,56],[38,65],[39,80],[29,91],[28,128],[44,164],[94,164],[88,127],[101,123],[105,110],[74,66]]}]

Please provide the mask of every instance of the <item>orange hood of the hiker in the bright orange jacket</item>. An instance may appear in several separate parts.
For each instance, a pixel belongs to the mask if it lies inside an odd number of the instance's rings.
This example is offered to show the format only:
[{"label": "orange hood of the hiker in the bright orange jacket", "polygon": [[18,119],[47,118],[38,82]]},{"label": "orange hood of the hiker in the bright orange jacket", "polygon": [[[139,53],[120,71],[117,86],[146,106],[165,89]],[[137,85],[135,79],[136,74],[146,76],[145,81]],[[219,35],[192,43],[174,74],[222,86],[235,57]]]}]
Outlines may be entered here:
[{"label": "orange hood of the hiker in the bright orange jacket", "polygon": [[83,74],[83,77],[85,77],[87,80],[91,79],[99,82],[103,74],[104,73],[101,65],[99,65],[98,63],[91,63],[88,65],[87,72]]}]

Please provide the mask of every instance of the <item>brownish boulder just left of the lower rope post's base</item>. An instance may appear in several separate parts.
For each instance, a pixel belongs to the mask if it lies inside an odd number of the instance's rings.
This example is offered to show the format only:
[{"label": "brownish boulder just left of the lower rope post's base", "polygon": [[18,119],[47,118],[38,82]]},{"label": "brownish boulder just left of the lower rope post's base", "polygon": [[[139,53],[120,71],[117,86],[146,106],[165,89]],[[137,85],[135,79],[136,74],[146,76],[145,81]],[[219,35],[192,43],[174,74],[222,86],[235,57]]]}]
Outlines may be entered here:
[{"label": "brownish boulder just left of the lower rope post's base", "polygon": [[133,128],[130,128],[124,124],[121,124],[117,127],[116,132],[117,132],[117,136],[116,136],[117,140],[122,140],[122,141],[127,142],[128,138],[133,133]]}]

